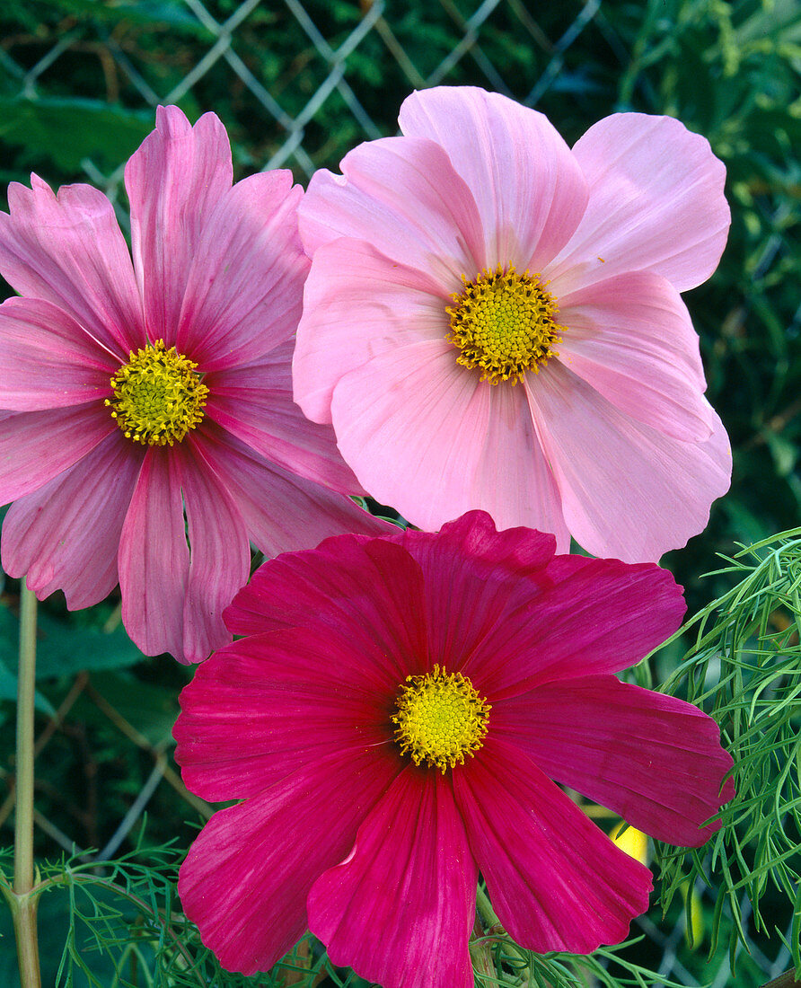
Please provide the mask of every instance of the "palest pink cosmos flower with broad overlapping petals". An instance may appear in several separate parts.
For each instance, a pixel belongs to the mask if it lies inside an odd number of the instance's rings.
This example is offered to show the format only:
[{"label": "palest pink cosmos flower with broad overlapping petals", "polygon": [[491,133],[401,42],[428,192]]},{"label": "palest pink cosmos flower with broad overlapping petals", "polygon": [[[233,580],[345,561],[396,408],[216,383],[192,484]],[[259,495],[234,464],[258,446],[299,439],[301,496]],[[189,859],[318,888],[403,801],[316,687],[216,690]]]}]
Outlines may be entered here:
[{"label": "palest pink cosmos flower with broad overlapping petals", "polygon": [[683,545],[731,475],[679,294],[726,242],[722,163],[642,114],[571,150],[481,89],[414,93],[400,124],[300,207],[295,400],[420,528],[483,508],[560,550]]}]

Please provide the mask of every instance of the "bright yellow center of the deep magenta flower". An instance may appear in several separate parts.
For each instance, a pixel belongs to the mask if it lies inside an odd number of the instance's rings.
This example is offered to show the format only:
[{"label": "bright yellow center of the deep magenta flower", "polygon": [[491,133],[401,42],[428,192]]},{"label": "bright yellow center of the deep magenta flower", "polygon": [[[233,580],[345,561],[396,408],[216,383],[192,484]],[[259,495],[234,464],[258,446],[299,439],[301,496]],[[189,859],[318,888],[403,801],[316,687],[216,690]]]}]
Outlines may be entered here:
[{"label": "bright yellow center of the deep magenta flower", "polygon": [[489,703],[461,673],[446,673],[440,666],[425,676],[407,676],[406,682],[410,685],[401,687],[392,718],[401,753],[442,774],[457,762],[464,765],[464,756],[472,758],[484,741]]}]

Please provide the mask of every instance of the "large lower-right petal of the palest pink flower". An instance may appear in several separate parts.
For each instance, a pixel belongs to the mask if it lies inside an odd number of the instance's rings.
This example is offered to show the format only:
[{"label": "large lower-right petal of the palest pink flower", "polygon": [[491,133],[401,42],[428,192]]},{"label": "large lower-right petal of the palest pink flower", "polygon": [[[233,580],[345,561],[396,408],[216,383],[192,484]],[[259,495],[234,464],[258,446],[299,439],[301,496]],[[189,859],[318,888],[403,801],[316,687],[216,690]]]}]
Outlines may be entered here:
[{"label": "large lower-right petal of the palest pink flower", "polygon": [[731,448],[717,416],[709,440],[682,443],[618,411],[556,361],[525,386],[580,545],[640,562],[703,531],[731,480]]}]

